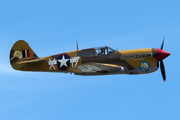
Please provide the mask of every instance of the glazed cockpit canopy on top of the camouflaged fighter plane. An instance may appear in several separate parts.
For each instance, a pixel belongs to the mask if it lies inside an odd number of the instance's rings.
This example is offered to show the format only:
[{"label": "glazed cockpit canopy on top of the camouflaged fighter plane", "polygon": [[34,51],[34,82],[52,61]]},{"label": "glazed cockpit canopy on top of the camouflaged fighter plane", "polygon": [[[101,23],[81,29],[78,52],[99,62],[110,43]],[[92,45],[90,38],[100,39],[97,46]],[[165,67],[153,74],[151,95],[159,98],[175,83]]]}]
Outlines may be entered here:
[{"label": "glazed cockpit canopy on top of the camouflaged fighter plane", "polygon": [[81,57],[91,57],[91,56],[108,55],[115,51],[116,50],[114,50],[108,46],[104,46],[104,47],[84,49],[84,50],[78,51],[77,55],[81,56]]}]

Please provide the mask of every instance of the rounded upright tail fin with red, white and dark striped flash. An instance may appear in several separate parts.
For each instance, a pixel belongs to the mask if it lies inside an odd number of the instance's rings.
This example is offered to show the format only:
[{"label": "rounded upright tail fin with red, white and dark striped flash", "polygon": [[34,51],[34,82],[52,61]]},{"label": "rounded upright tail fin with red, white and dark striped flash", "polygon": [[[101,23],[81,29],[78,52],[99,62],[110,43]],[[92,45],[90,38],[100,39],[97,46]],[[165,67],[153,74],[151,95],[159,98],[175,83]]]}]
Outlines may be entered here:
[{"label": "rounded upright tail fin with red, white and dark striped flash", "polygon": [[28,43],[24,40],[18,40],[10,51],[10,63],[11,66],[16,70],[21,70],[22,65],[17,64],[25,60],[32,60],[39,58]]}]

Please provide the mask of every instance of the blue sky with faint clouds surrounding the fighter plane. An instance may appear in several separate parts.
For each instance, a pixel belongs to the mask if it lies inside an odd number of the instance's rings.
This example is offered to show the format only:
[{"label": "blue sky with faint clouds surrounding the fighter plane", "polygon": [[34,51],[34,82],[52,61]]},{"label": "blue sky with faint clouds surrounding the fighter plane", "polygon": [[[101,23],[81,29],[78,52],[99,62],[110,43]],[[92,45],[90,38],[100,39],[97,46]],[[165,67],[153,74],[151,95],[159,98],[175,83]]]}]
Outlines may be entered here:
[{"label": "blue sky with faint clouds surrounding the fighter plane", "polygon": [[[39,57],[108,45],[160,48],[160,70],[145,75],[83,77],[20,72],[9,63],[12,45],[26,40]],[[180,1],[1,0],[1,120],[179,120]]]}]

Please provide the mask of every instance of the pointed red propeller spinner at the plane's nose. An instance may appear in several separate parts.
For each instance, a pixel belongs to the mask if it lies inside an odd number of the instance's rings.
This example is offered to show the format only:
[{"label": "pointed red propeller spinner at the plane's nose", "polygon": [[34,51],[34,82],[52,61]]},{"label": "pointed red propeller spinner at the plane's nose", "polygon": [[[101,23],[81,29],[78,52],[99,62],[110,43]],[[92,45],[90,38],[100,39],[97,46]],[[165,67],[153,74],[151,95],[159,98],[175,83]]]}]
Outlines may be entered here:
[{"label": "pointed red propeller spinner at the plane's nose", "polygon": [[156,59],[158,61],[161,61],[163,59],[165,59],[166,57],[168,57],[170,55],[169,52],[162,50],[162,49],[156,49]]}]

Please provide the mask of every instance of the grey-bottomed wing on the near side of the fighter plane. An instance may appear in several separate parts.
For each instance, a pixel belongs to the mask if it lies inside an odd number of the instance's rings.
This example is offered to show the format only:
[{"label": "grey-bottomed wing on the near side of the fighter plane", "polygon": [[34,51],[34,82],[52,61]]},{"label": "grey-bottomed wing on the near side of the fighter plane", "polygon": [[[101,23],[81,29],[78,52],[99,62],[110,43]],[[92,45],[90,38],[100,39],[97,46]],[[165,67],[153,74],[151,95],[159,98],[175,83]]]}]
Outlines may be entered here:
[{"label": "grey-bottomed wing on the near side of the fighter plane", "polygon": [[124,67],[114,64],[105,64],[105,63],[85,63],[77,66],[83,74],[115,74],[124,71]]}]

